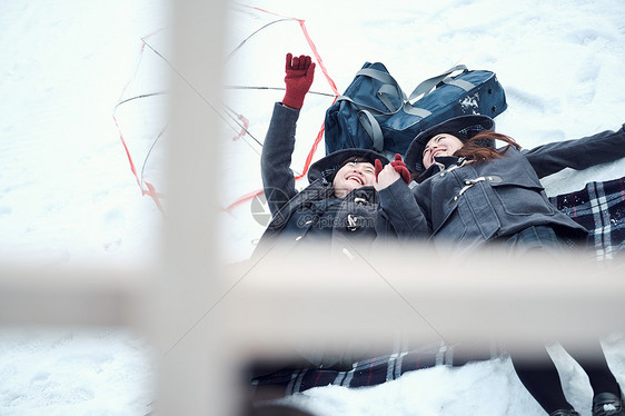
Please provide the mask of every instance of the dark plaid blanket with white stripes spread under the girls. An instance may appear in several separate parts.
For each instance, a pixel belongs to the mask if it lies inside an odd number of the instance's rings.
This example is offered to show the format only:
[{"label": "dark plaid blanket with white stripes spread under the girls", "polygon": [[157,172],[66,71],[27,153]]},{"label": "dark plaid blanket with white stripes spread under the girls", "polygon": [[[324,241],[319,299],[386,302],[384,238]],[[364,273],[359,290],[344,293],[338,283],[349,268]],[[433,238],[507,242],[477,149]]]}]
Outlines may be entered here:
[{"label": "dark plaid blanket with white stripes spread under the girls", "polygon": [[[625,248],[625,178],[589,182],[582,190],[549,198],[558,210],[584,226],[588,231],[588,247],[594,247],[597,260],[611,260]],[[282,369],[252,379],[254,388],[284,388],[285,395],[312,387],[336,385],[363,387],[394,380],[404,373],[436,365],[462,366],[470,360],[505,356],[502,348],[490,346],[488,356],[470,357],[455,353],[444,343],[416,349],[397,345],[393,354],[354,363],[350,369],[297,368]]]}]

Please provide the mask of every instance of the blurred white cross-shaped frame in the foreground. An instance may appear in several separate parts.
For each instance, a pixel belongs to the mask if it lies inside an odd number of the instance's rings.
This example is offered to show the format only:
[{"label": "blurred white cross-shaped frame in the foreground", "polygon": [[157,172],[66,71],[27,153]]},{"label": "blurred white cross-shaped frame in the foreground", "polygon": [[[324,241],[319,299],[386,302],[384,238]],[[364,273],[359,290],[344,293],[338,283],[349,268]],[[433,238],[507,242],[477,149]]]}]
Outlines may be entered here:
[{"label": "blurred white cross-shaped frame in the foreground", "polygon": [[[415,339],[496,333],[516,343],[549,335],[584,344],[624,329],[622,264],[599,267],[581,257],[565,265],[542,257],[513,264],[484,252],[440,263],[428,247],[415,246],[346,263],[310,252],[222,266],[215,221],[218,120],[189,106],[196,98],[177,83],[219,96],[215,57],[226,30],[225,2],[171,6],[172,62],[185,80],[172,79],[176,146],[168,149],[162,263],[150,270],[3,266],[3,325],[112,325],[147,333],[163,358],[155,400],[162,415],[236,414],[238,364],[280,354],[285,341],[310,347],[354,336],[376,341],[401,329]],[[188,178],[215,179],[201,180],[205,188],[198,189]]]}]

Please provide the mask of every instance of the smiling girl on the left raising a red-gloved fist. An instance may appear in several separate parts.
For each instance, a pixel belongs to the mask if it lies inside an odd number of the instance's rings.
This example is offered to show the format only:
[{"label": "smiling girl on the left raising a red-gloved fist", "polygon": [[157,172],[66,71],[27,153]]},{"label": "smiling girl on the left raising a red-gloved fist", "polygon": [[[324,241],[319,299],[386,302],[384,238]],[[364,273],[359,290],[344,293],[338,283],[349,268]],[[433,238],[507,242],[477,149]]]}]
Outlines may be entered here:
[{"label": "smiling girl on the left raising a red-gloved fist", "polygon": [[381,165],[388,164],[383,155],[367,149],[333,152],[310,166],[308,187],[301,191],[295,187],[290,162],[296,122],[314,73],[310,57],[287,55],[286,93],[274,106],[261,155],[262,185],[271,221],[255,256],[274,250],[281,256],[315,247],[349,258],[354,245],[367,246],[377,237],[374,165],[376,159]]}]

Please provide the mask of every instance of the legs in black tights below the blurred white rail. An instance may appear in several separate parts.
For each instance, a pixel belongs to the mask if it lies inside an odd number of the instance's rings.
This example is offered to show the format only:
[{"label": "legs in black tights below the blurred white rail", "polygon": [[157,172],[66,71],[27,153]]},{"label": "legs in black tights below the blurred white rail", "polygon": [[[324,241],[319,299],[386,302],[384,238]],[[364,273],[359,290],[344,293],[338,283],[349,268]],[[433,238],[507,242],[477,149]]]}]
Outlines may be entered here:
[{"label": "legs in black tights below the blurred white rail", "polygon": [[[572,348],[568,351],[575,353]],[[525,388],[548,414],[557,409],[573,409],[564,396],[559,375],[547,350],[540,347],[530,353],[529,358],[510,353],[516,374]],[[585,350],[585,354],[572,356],[588,375],[594,396],[613,393],[621,397],[618,383],[607,366],[598,341],[592,349]]]}]

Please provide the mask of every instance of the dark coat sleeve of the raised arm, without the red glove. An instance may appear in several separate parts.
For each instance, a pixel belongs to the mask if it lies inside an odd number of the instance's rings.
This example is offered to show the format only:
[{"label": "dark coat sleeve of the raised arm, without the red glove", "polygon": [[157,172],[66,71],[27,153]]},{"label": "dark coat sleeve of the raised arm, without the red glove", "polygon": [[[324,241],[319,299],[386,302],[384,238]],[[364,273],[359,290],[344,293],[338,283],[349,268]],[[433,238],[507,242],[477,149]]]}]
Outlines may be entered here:
[{"label": "dark coat sleeve of the raised arm, without the red glove", "polygon": [[262,145],[260,156],[262,187],[274,217],[297,194],[290,164],[298,117],[299,110],[276,102]]}]

